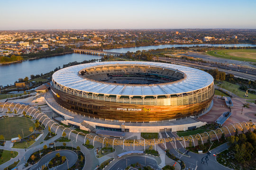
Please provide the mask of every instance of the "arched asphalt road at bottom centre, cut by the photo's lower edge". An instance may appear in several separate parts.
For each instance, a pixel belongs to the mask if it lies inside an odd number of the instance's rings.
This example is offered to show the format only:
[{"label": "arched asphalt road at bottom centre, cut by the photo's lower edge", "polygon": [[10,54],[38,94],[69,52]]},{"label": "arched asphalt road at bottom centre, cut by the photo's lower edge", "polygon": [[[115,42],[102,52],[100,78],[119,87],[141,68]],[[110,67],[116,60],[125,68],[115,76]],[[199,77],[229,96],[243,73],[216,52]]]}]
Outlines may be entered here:
[{"label": "arched asphalt road at bottom centre, cut by the photo's lower edge", "polygon": [[160,170],[158,168],[157,162],[153,159],[147,158],[145,156],[129,156],[126,158],[121,159],[117,163],[115,163],[110,170],[125,170],[125,168],[131,164],[134,163],[139,163],[142,165],[145,165],[145,160],[146,160],[146,166],[150,166],[154,168],[155,170]]}]

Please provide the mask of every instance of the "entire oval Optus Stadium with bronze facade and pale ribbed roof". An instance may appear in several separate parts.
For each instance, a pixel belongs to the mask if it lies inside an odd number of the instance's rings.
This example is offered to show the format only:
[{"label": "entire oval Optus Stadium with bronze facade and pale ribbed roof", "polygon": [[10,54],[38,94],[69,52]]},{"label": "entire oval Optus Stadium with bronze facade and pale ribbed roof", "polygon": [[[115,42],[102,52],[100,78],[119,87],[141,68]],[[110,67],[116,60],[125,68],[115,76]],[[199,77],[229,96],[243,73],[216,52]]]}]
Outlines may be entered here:
[{"label": "entire oval Optus Stadium with bronze facade and pale ribbed roof", "polygon": [[56,102],[69,110],[127,122],[196,116],[214,95],[213,77],[202,70],[142,61],[63,68],[53,74],[51,85]]}]

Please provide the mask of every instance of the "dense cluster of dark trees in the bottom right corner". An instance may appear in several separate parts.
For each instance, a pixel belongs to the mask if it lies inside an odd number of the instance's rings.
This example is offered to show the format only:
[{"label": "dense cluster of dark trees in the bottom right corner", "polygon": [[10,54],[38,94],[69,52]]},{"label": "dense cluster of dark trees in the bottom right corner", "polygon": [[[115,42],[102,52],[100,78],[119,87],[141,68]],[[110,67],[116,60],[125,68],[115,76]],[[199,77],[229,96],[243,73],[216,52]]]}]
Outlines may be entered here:
[{"label": "dense cluster of dark trees in the bottom right corner", "polygon": [[229,151],[231,157],[233,157],[239,164],[243,164],[248,161],[256,161],[256,130],[247,131],[238,135],[236,131],[235,136],[230,136]]}]

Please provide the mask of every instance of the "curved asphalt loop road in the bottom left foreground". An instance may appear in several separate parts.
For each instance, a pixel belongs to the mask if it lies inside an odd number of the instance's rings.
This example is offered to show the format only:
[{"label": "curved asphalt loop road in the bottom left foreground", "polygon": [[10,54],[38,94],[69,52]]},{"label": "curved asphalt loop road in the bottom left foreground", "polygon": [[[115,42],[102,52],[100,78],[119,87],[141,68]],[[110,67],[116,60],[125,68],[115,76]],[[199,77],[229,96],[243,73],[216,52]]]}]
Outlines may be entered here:
[{"label": "curved asphalt loop road in the bottom left foreground", "polygon": [[54,151],[46,154],[37,164],[32,166],[29,170],[39,170],[39,168],[41,168],[43,165],[47,166],[49,161],[51,161],[51,159],[55,157],[56,153],[60,153],[61,156],[65,156],[67,158],[67,161],[65,161],[55,170],[67,170],[68,167],[69,168],[72,167],[77,160],[77,155],[73,151],[70,151],[70,150]]}]

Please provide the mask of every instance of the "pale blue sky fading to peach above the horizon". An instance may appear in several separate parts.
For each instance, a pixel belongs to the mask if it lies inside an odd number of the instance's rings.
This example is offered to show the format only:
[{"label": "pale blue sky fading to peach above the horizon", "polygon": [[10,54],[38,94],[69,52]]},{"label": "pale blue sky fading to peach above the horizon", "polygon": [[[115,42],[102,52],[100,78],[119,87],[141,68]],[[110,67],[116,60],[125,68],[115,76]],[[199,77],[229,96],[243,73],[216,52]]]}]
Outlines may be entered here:
[{"label": "pale blue sky fading to peach above the horizon", "polygon": [[256,0],[0,0],[0,30],[256,29]]}]

